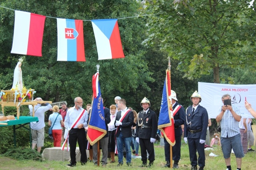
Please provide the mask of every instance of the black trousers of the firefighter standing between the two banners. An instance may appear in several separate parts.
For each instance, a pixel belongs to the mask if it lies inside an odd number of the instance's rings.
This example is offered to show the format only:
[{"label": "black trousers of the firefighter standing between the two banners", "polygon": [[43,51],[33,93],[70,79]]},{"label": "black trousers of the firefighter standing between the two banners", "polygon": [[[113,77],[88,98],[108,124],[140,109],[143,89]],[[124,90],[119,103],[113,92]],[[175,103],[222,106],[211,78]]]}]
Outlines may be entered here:
[{"label": "black trousers of the firefighter standing between the two banners", "polygon": [[154,143],[150,142],[150,139],[141,139],[140,138],[140,152],[141,152],[141,160],[147,160],[147,151],[148,151],[148,160],[154,161],[155,160],[155,153],[154,153]]}]

